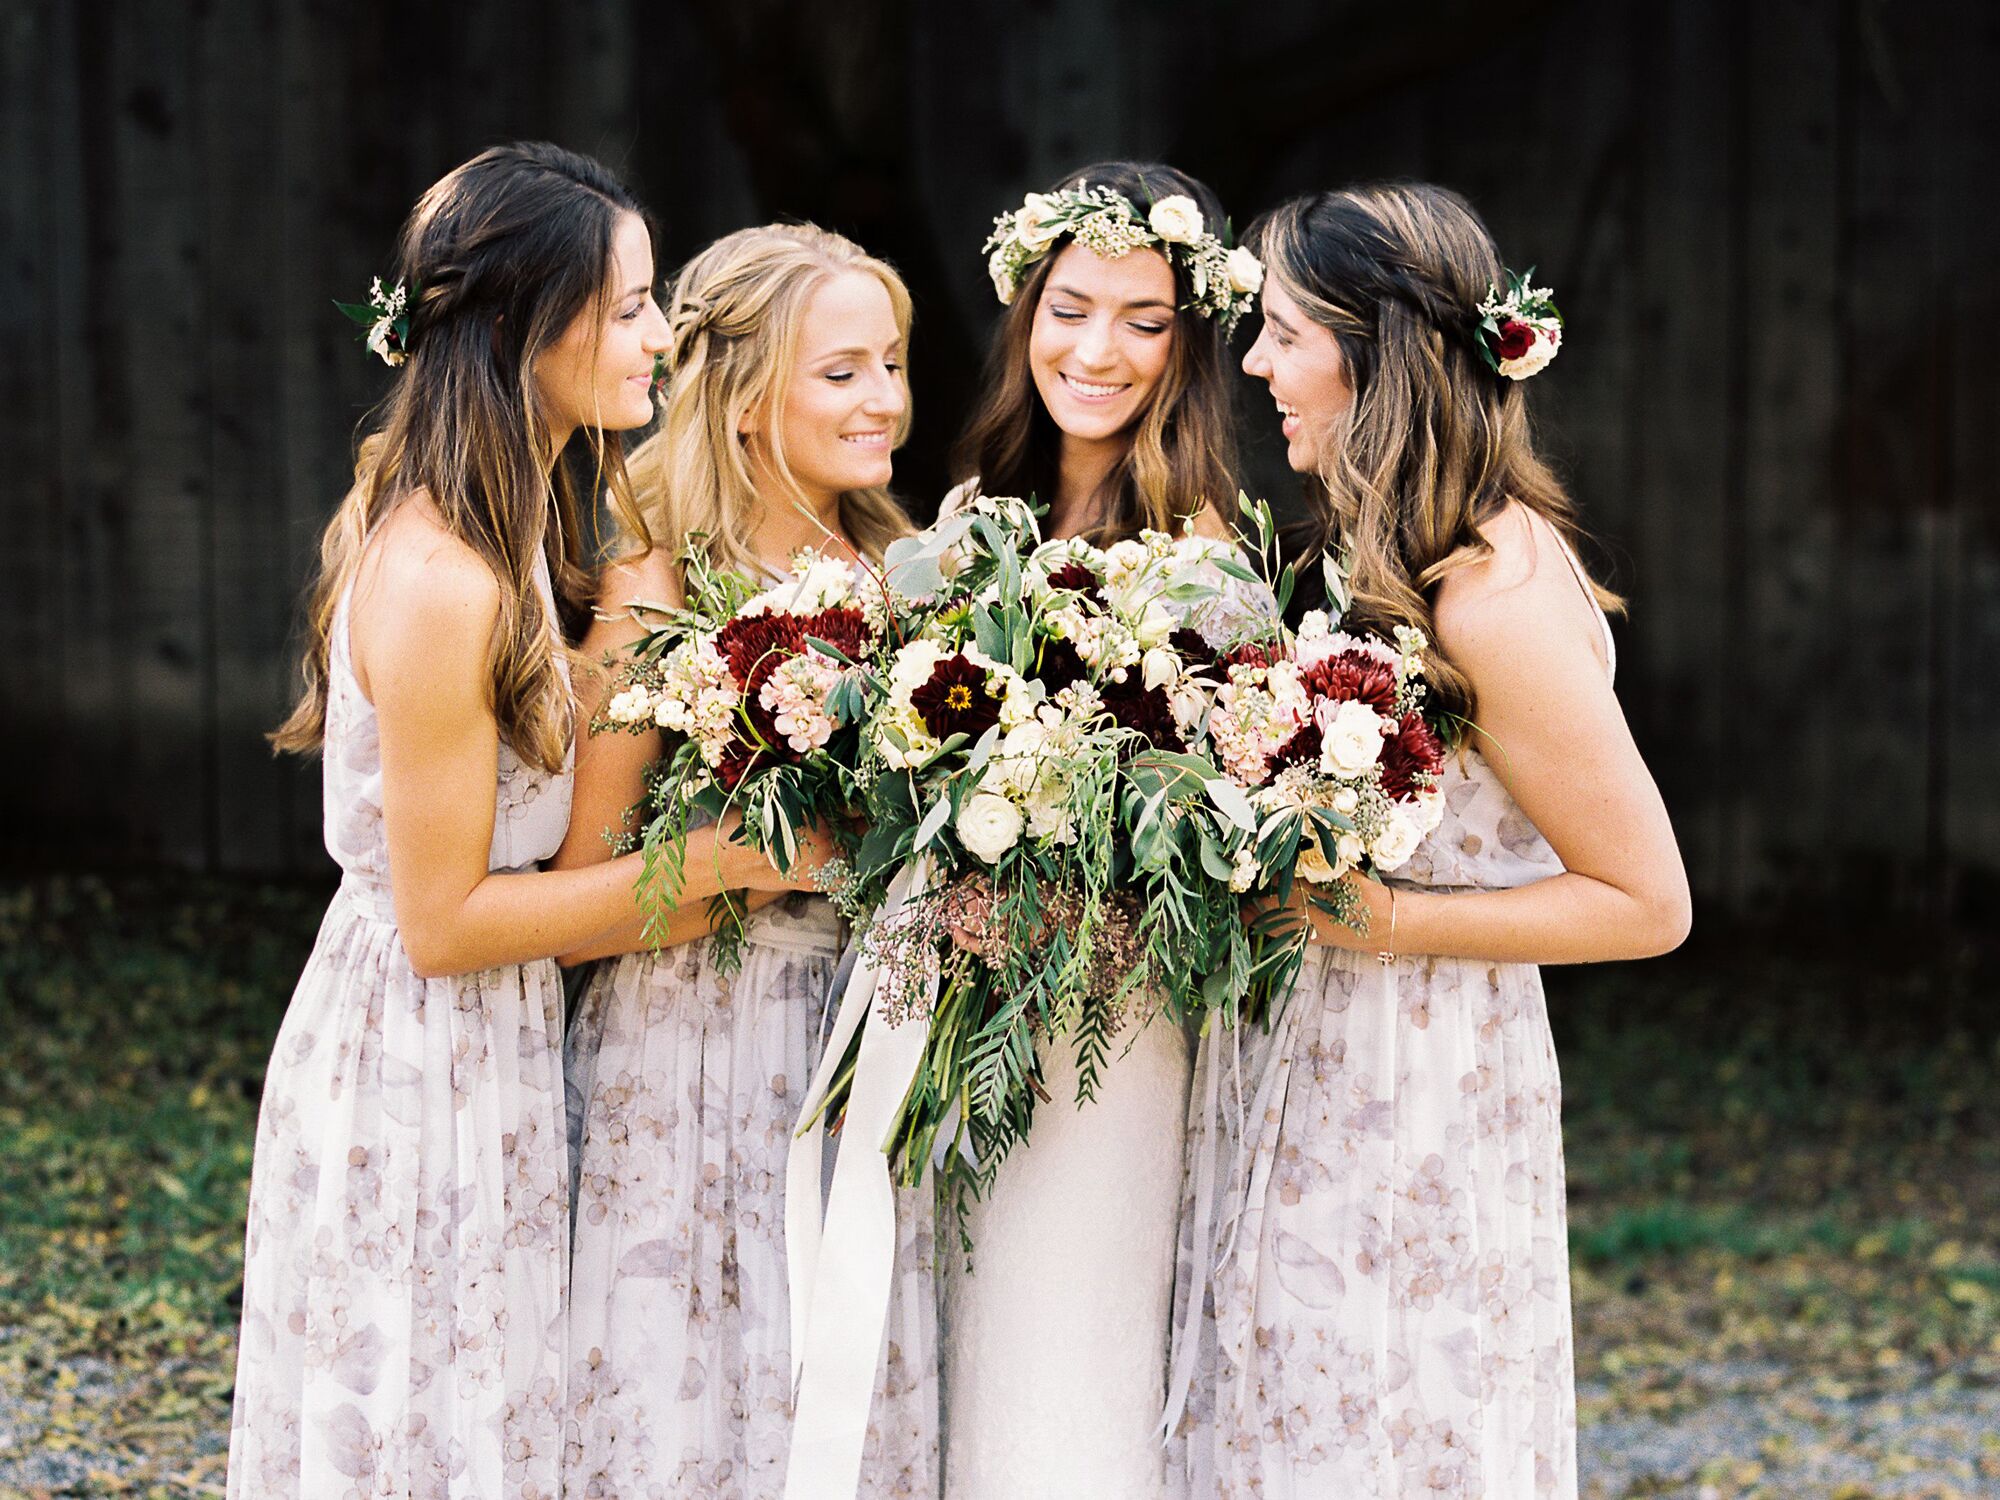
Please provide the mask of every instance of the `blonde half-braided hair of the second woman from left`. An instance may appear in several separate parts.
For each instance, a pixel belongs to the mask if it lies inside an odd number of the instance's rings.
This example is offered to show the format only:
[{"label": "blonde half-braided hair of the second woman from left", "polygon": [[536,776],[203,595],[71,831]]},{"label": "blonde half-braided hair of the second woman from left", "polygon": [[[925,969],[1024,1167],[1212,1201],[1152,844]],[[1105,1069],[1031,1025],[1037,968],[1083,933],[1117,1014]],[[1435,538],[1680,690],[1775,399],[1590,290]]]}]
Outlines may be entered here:
[{"label": "blonde half-braided hair of the second woman from left", "polygon": [[[702,536],[710,560],[756,576],[752,546],[756,518],[766,504],[804,500],[784,460],[784,410],[798,354],[806,304],[832,276],[864,272],[882,282],[908,362],[910,290],[896,270],[852,240],[812,224],[764,224],[736,230],[690,260],[668,298],[668,392],[660,426],[632,452],[632,490],[646,520],[636,540],[672,550],[678,558],[690,538]],[[906,364],[908,368],[908,364]],[[768,460],[764,468],[792,490],[766,496],[758,490],[742,424],[760,414]],[[892,446],[910,434],[904,406]],[[870,560],[882,558],[910,518],[886,488],[848,490],[840,496],[840,526]]]}]

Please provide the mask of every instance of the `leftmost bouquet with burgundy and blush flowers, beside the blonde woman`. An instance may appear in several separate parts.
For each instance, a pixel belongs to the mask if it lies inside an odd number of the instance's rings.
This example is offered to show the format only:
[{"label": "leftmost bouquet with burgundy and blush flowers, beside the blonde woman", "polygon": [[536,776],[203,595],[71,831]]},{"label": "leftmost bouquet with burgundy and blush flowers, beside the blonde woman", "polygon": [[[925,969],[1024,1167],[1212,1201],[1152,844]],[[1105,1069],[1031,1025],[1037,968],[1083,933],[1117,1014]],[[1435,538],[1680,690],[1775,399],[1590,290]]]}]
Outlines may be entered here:
[{"label": "leftmost bouquet with burgundy and blush flowers, beside the blonde woman", "polygon": [[[712,568],[700,548],[684,568],[682,608],[646,606],[636,646],[594,730],[658,728],[666,746],[646,772],[640,898],[658,942],[686,884],[688,830],[728,808],[778,868],[798,836],[838,826],[854,806],[858,724],[884,596],[840,558],[802,550],[792,576],[758,592]],[[740,954],[744,908],[716,898],[722,962]]]}]

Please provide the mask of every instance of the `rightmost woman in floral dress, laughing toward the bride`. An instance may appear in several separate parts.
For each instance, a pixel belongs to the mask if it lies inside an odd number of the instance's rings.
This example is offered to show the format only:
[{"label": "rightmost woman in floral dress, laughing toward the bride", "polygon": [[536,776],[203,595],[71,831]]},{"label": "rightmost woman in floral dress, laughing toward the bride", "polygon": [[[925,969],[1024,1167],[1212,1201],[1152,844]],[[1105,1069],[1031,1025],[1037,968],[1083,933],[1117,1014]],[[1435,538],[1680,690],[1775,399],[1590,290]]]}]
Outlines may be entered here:
[{"label": "rightmost woman in floral dress, laughing toward the bride", "polygon": [[1568,1500],[1536,964],[1672,948],[1688,886],[1612,694],[1618,600],[1528,436],[1520,380],[1560,318],[1442,188],[1296,198],[1250,240],[1244,370],[1318,480],[1308,552],[1344,550],[1350,626],[1434,642],[1466,736],[1442,822],[1390,884],[1350,878],[1356,922],[1298,912],[1312,948],[1274,1028],[1202,1042],[1224,1082],[1188,1152],[1176,1464],[1196,1496]]}]

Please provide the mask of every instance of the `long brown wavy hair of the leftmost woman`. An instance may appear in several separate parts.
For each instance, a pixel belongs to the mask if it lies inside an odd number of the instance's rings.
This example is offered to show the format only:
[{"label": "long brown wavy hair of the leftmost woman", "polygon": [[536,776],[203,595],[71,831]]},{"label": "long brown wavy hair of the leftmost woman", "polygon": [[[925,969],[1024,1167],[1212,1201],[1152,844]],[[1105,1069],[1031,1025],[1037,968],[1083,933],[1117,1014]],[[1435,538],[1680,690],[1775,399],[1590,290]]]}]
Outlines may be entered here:
[{"label": "long brown wavy hair of the leftmost woman", "polygon": [[[382,520],[424,492],[500,584],[490,652],[500,736],[530,764],[562,766],[574,704],[556,666],[566,648],[536,590],[536,556],[548,558],[556,596],[570,608],[584,606],[590,580],[580,486],[550,450],[534,362],[578,316],[606,316],[620,214],[644,218],[598,162],[546,142],[492,146],[416,202],[396,256],[396,276],[414,288],[408,360],[320,540],[306,602],[306,684],[270,736],[276,748],[306,752],[324,740],[340,596]],[[598,484],[642,530],[618,436],[586,428],[578,440],[594,452]]]}]

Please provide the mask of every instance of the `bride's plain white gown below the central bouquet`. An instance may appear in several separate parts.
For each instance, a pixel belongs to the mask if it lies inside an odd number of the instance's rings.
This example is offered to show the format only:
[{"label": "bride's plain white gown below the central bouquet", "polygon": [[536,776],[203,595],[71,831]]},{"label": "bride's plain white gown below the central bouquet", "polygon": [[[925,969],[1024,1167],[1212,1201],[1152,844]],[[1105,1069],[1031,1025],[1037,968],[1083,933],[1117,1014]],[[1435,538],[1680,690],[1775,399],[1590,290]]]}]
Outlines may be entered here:
[{"label": "bride's plain white gown below the central bouquet", "polygon": [[944,1494],[1160,1500],[1192,1044],[1128,1026],[1084,1106],[1072,1048],[1038,1054],[1050,1100],[968,1206],[970,1264],[946,1250]]}]

